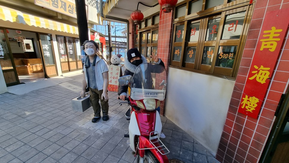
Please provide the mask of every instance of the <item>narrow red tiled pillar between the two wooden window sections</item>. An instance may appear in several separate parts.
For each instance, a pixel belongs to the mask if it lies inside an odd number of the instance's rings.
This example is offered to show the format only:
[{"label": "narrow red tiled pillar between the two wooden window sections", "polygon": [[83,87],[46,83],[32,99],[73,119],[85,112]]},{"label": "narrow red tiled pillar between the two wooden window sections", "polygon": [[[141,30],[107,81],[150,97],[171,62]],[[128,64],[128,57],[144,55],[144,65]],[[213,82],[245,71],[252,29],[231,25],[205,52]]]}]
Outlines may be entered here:
[{"label": "narrow red tiled pillar between the two wooden window sections", "polygon": [[[158,57],[164,62],[166,70],[170,62],[173,15],[174,11],[171,11],[170,13],[161,12],[159,16]],[[165,101],[161,102],[161,115],[164,114],[164,104]]]}]

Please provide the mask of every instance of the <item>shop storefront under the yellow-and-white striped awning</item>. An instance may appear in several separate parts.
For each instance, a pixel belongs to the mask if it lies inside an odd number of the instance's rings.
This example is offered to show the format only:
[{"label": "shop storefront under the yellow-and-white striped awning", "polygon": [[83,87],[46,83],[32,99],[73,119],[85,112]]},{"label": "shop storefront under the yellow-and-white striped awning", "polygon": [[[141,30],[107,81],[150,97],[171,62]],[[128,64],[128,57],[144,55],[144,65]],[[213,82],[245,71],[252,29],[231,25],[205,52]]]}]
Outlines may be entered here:
[{"label": "shop storefront under the yellow-and-white striped awning", "polygon": [[[77,27],[4,6],[0,6],[0,12],[0,65],[6,86],[61,75],[62,72],[59,74],[57,70],[58,67],[61,68],[61,65],[57,65],[57,41],[53,37],[57,33],[73,36],[63,48],[65,55],[76,55]],[[77,70],[76,58],[75,56],[70,61],[74,61],[75,65],[71,70]]]}]

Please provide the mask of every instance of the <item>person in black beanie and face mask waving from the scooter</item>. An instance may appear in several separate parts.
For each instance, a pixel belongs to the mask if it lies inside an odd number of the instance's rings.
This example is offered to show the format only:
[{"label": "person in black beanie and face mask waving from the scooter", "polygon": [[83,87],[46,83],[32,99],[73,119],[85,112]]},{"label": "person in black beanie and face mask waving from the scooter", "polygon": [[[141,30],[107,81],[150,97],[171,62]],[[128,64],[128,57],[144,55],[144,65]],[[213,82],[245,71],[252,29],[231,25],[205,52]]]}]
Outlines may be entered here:
[{"label": "person in black beanie and face mask waving from the scooter", "polygon": [[[155,62],[155,64],[159,64],[165,67],[164,62],[161,59],[159,59],[157,54],[155,55],[155,53],[152,53],[150,57],[153,58],[153,61]],[[129,49],[127,51],[127,59],[124,60],[124,66],[126,70],[124,71],[123,76],[126,76],[126,75],[133,76],[134,72],[136,71],[136,68],[142,63],[147,63],[147,59],[139,53],[139,50],[136,48]],[[118,88],[119,99],[124,101],[124,98],[127,97],[127,89],[128,89],[128,85],[124,85]],[[127,111],[127,113],[130,113],[130,109]],[[160,137],[165,138],[165,135],[161,133]]]}]

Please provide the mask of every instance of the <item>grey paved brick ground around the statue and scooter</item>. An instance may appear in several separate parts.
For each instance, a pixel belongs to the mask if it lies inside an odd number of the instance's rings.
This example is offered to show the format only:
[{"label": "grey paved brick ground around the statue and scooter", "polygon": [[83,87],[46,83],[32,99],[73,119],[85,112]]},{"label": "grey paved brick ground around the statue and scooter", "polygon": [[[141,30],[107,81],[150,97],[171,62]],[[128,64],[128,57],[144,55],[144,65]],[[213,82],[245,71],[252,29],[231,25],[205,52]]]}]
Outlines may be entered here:
[{"label": "grey paved brick ground around the statue and scooter", "polygon": [[[71,99],[81,90],[82,75],[65,82],[0,95],[0,162],[134,163],[127,144],[127,105],[109,92],[109,120],[92,123],[93,109],[73,111]],[[44,80],[44,82],[47,80]],[[14,87],[14,86],[12,86]],[[23,89],[27,89],[23,87]],[[169,159],[186,163],[217,163],[213,155],[166,117],[161,117]]]}]

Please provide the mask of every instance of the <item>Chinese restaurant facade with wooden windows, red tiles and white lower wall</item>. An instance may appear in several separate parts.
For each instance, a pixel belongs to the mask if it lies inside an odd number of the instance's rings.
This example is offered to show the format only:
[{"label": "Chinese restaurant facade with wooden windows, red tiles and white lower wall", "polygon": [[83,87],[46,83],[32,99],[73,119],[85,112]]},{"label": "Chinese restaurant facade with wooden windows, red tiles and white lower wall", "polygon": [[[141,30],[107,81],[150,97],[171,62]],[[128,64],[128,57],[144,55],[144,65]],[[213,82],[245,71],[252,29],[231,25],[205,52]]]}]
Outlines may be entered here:
[{"label": "Chinese restaurant facade with wooden windows, red tiles and white lower wall", "polygon": [[[126,9],[121,0],[110,2],[105,15]],[[288,21],[282,17],[289,1],[179,0],[169,13],[156,3],[142,8],[139,25],[129,14],[119,16],[130,22],[129,48],[148,61],[156,52],[165,63],[161,113],[220,162],[288,161],[288,96],[279,101],[289,83]]]}]

